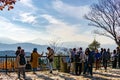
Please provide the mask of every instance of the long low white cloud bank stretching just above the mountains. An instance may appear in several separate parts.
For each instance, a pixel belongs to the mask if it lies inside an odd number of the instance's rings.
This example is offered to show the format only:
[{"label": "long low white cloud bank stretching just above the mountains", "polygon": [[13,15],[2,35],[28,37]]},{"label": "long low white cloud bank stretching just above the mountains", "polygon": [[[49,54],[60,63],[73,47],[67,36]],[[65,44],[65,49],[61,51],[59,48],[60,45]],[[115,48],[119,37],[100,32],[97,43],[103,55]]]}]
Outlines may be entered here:
[{"label": "long low white cloud bank stretching just above the mountains", "polygon": [[[12,24],[8,19],[0,17],[0,37],[8,37],[17,41],[30,41],[36,38],[41,38],[43,40],[60,39],[63,42],[66,41],[83,41],[91,43],[94,36],[91,35],[91,31],[86,31],[84,34],[81,28],[76,25],[67,24],[61,20],[57,20],[50,15],[42,15],[45,19],[50,22],[50,25],[46,26],[46,32],[41,33],[35,30],[22,28],[16,24]],[[52,21],[52,22],[51,22]],[[79,32],[80,34],[78,34]],[[97,41],[101,44],[115,44],[113,40],[96,36]],[[38,43],[39,44],[39,43]]]}]

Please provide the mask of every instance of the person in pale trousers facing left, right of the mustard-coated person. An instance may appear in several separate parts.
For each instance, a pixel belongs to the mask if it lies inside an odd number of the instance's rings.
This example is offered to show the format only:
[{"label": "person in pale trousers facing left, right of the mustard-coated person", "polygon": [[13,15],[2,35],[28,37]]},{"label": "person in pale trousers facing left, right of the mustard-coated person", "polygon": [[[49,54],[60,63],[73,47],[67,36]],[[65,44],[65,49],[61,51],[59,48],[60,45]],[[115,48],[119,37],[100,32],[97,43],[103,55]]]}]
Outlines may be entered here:
[{"label": "person in pale trousers facing left, right of the mustard-coated person", "polygon": [[52,73],[53,70],[53,60],[54,60],[54,50],[51,47],[47,47],[48,53],[47,53],[47,58],[48,58],[48,63],[49,63],[49,69],[50,73]]}]

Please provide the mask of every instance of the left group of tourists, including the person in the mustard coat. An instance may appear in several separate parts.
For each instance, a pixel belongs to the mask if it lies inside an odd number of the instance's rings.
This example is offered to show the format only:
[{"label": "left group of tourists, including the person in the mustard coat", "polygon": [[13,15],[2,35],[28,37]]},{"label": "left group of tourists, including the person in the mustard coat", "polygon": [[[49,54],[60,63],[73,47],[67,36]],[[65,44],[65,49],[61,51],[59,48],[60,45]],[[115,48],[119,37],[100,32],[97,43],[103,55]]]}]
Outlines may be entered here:
[{"label": "left group of tourists, including the person in the mustard coat", "polygon": [[[47,50],[48,52],[46,53],[46,55],[47,55],[49,70],[50,73],[52,73],[54,50],[51,49],[51,47],[47,47]],[[37,52],[37,48],[34,48],[31,53],[30,60],[27,61],[24,49],[22,49],[21,46],[18,46],[15,54],[16,54],[16,67],[18,72],[18,79],[21,80],[21,74],[22,74],[23,79],[26,80],[26,74],[25,74],[26,71],[32,70],[33,74],[36,74],[39,65],[39,58],[42,57],[43,53],[39,54]]]}]

